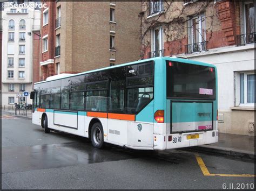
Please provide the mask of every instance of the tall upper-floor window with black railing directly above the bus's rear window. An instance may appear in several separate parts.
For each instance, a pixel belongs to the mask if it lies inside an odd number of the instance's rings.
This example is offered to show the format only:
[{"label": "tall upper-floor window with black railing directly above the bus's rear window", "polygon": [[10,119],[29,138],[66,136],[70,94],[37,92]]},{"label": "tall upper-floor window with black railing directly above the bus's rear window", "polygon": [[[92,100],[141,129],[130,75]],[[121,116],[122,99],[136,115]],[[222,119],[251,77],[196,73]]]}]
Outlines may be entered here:
[{"label": "tall upper-floor window with black railing directly above the bus's rear window", "polygon": [[186,53],[206,50],[206,21],[204,13],[188,19]]}]

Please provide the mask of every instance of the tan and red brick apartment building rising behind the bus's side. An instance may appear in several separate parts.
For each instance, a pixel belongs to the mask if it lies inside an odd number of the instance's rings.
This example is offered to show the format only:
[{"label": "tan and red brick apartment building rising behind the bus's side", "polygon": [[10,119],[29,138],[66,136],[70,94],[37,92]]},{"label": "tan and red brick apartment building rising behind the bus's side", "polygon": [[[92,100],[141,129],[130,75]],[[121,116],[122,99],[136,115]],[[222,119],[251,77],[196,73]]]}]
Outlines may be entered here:
[{"label": "tan and red brick apartment building rising behind the bus's side", "polygon": [[141,2],[45,2],[41,80],[140,58]]}]

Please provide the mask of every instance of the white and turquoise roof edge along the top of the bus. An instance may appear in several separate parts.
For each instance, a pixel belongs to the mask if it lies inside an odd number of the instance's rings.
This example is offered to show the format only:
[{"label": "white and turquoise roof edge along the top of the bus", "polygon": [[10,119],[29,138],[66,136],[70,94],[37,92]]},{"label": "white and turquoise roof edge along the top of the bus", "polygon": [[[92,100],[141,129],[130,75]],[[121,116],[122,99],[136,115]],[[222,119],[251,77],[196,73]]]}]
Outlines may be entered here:
[{"label": "white and turquoise roof edge along the top of the bus", "polygon": [[[89,70],[86,72],[82,72],[82,73],[77,73],[77,74],[71,74],[68,76],[56,76],[53,77],[50,80],[46,80],[46,81],[41,81],[41,82],[36,82],[35,84],[39,84],[39,83],[45,83],[45,82],[50,82],[50,81],[55,81],[55,80],[60,80],[60,79],[65,79],[68,77],[73,77],[73,76],[79,76],[79,75],[83,75],[83,74],[89,74],[92,72],[99,72],[102,70],[107,70],[107,69],[112,69],[112,68],[118,68],[118,67],[122,67],[122,66],[129,66],[129,65],[134,65],[135,63],[143,63],[143,62],[147,62],[147,61],[156,61],[156,60],[170,60],[170,61],[178,61],[178,62],[184,62],[184,63],[191,63],[194,65],[202,65],[202,66],[208,66],[208,67],[214,67],[214,65],[211,65],[209,63],[205,63],[205,62],[199,62],[199,61],[194,61],[194,60],[188,60],[188,59],[183,59],[183,58],[177,58],[177,57],[156,57],[156,58],[150,58],[150,59],[144,59],[144,60],[137,60],[137,61],[133,61],[133,62],[128,62],[128,63],[123,63],[120,65],[116,65],[116,66],[109,66],[109,67],[105,67],[105,68],[99,68],[99,69],[94,69],[94,70]],[[57,78],[58,77],[58,78]]]}]

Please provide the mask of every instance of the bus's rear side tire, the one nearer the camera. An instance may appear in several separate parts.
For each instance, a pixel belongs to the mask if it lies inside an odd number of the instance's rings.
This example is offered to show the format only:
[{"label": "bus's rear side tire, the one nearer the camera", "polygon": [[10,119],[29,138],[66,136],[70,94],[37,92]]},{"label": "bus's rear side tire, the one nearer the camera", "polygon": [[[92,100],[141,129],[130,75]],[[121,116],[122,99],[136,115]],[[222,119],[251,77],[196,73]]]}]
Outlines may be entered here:
[{"label": "bus's rear side tire, the one nearer the camera", "polygon": [[103,128],[100,123],[95,123],[92,125],[91,142],[92,146],[95,148],[102,148],[104,146]]}]

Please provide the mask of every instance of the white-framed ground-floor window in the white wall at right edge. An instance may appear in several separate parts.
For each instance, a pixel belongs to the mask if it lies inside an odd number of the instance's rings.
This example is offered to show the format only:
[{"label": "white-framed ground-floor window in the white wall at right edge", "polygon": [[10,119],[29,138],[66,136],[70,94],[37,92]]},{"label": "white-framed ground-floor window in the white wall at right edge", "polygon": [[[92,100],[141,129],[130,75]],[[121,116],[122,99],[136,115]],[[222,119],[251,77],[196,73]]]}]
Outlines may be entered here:
[{"label": "white-framed ground-floor window in the white wall at right edge", "polygon": [[240,73],[240,105],[254,105],[255,103],[255,78],[253,72]]}]

